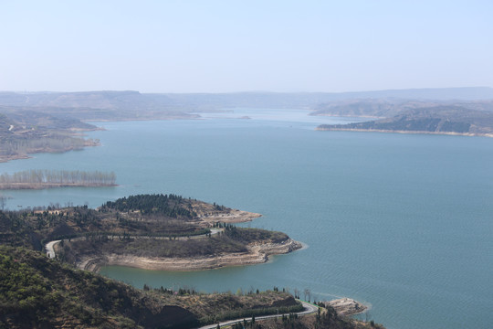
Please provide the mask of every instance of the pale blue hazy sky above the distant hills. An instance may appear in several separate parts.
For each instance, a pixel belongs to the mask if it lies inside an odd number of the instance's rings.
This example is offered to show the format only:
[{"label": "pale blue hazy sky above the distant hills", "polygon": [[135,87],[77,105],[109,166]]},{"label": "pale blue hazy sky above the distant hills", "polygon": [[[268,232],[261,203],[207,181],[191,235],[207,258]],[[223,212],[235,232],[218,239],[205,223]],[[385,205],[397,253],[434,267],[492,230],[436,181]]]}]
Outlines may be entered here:
[{"label": "pale blue hazy sky above the distant hills", "polygon": [[0,0],[0,90],[493,87],[493,1]]}]

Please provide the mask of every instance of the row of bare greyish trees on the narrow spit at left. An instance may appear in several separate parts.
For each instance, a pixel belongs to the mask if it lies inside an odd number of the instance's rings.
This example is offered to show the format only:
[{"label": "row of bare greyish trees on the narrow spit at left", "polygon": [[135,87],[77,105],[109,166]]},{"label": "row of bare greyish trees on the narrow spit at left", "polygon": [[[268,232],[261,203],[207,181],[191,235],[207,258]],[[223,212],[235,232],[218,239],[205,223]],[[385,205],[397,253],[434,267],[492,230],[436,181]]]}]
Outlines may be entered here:
[{"label": "row of bare greyish trees on the narrow spit at left", "polygon": [[89,185],[114,186],[116,175],[113,172],[87,172],[80,170],[25,170],[14,174],[0,175],[0,186],[10,184],[27,185]]}]

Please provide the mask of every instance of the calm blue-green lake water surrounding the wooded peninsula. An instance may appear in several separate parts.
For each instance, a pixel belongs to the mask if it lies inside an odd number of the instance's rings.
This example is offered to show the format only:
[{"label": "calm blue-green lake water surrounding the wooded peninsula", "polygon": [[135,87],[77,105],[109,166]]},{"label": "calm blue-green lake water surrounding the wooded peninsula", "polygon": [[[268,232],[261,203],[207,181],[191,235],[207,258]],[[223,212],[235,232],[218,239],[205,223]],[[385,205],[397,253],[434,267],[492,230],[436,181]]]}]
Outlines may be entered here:
[{"label": "calm blue-green lake water surrounding the wooded peninsula", "polygon": [[[280,116],[282,114],[282,116]],[[236,292],[309,288],[347,296],[388,328],[490,328],[493,311],[493,139],[316,132],[305,111],[210,114],[208,120],[101,122],[102,146],[0,164],[114,171],[120,186],[8,191],[7,206],[90,207],[138,193],[192,196],[264,215],[309,248],[267,264],[166,272],[107,267],[142,287]],[[237,119],[249,116],[251,120]],[[279,119],[281,118],[281,119]]]}]

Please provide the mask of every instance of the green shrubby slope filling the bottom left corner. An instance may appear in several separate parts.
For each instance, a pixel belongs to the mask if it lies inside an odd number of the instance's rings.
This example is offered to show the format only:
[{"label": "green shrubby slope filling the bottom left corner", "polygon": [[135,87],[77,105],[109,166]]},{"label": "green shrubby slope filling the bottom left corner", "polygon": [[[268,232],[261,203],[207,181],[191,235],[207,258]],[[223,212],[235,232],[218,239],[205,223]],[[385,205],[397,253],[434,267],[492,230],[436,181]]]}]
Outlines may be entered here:
[{"label": "green shrubby slope filling the bottom left corner", "polygon": [[0,327],[180,328],[198,324],[127,284],[48,260],[28,249],[0,246]]}]

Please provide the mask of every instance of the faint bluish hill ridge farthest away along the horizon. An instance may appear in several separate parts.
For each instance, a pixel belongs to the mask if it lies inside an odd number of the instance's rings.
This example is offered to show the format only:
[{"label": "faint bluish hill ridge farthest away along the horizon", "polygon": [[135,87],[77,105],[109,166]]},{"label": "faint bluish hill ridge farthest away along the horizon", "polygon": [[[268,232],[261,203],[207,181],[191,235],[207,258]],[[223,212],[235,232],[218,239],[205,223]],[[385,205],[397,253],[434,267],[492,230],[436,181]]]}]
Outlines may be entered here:
[{"label": "faint bluish hill ridge farthest away along the horizon", "polygon": [[[493,100],[488,87],[415,90],[379,90],[360,92],[232,92],[232,93],[140,93],[138,91],[87,92],[0,92],[0,105],[37,108],[99,110],[104,116],[120,117],[211,111],[225,108],[298,108],[315,109],[322,103],[354,99],[401,99],[420,101]],[[119,110],[116,112],[115,110]],[[69,111],[77,114],[74,111]],[[138,114],[136,114],[138,113]],[[97,113],[94,113],[97,114]],[[147,115],[149,116],[149,115]],[[101,119],[101,115],[98,116]],[[110,119],[110,118],[108,118]]]}]

